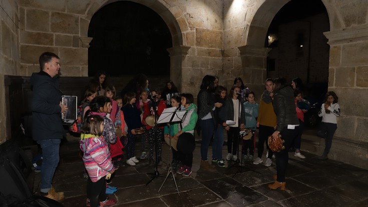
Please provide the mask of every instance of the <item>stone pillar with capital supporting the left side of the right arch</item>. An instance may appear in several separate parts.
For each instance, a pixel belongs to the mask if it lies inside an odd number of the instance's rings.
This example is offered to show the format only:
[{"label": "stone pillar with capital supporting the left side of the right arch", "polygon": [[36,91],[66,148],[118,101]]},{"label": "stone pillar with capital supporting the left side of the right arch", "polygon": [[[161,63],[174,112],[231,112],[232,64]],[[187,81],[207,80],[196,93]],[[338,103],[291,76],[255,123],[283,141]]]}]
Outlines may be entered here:
[{"label": "stone pillar with capital supporting the left side of the right arch", "polygon": [[242,64],[243,81],[260,98],[267,76],[267,54],[270,48],[245,45],[238,47]]}]

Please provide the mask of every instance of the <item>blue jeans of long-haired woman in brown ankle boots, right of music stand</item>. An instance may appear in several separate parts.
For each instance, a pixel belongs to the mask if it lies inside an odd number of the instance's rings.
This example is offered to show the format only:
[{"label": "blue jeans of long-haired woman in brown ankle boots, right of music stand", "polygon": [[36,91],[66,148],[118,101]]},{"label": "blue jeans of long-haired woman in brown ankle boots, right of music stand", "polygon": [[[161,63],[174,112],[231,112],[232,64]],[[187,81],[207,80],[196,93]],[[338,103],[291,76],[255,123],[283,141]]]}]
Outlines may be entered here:
[{"label": "blue jeans of long-haired woman in brown ankle boots, right of music stand", "polygon": [[201,157],[202,160],[207,160],[208,145],[210,144],[213,131],[215,129],[215,123],[213,119],[199,120],[199,126],[202,132],[202,143],[201,143]]}]

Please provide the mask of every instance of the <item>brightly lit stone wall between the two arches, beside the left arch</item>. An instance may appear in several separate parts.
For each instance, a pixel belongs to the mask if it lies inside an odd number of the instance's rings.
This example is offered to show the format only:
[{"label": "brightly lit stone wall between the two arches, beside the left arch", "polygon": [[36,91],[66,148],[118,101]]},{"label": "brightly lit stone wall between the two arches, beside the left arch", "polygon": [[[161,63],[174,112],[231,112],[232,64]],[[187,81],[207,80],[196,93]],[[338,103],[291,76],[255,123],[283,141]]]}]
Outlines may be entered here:
[{"label": "brightly lit stone wall between the two arches, beside the left arch", "polygon": [[[174,16],[183,34],[183,45],[189,48],[182,60],[181,89],[196,96],[205,75],[221,76],[222,1],[171,1],[170,4],[181,9]],[[175,75],[173,72],[171,76]]]}]

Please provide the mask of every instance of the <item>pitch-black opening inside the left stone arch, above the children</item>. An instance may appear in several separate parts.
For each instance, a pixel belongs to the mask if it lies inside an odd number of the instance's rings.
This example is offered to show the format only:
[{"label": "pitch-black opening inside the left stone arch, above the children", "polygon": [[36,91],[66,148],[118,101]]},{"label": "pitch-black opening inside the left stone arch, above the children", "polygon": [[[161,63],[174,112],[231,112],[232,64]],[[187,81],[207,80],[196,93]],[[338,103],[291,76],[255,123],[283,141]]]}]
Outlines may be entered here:
[{"label": "pitch-black opening inside the left stone arch, above the children", "polygon": [[88,75],[106,71],[111,77],[170,75],[170,31],[150,8],[121,1],[101,8],[91,19]]}]

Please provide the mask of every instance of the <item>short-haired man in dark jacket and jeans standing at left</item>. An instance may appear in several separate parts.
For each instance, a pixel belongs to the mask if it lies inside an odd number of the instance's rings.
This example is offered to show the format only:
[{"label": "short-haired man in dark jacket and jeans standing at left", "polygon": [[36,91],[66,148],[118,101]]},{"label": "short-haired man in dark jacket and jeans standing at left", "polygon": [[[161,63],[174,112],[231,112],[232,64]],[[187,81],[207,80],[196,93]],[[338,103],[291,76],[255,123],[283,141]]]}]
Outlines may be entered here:
[{"label": "short-haired man in dark jacket and jeans standing at left", "polygon": [[40,56],[39,73],[33,73],[32,118],[33,139],[41,145],[43,163],[41,169],[41,195],[54,200],[64,199],[64,192],[55,192],[51,182],[59,163],[59,147],[65,132],[61,113],[68,107],[62,105],[59,89],[59,57],[50,52]]}]

